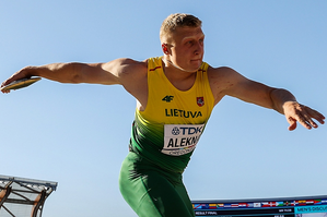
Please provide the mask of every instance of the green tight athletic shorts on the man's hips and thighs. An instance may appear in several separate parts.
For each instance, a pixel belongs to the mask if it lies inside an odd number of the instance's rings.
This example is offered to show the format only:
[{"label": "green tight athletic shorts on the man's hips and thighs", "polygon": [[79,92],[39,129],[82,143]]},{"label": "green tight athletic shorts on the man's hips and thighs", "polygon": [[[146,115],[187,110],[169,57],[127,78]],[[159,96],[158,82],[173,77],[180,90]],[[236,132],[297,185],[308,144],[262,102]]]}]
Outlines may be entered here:
[{"label": "green tight athletic shorts on the man's hips and thighs", "polygon": [[195,216],[182,174],[164,171],[132,152],[122,162],[119,189],[138,216]]}]

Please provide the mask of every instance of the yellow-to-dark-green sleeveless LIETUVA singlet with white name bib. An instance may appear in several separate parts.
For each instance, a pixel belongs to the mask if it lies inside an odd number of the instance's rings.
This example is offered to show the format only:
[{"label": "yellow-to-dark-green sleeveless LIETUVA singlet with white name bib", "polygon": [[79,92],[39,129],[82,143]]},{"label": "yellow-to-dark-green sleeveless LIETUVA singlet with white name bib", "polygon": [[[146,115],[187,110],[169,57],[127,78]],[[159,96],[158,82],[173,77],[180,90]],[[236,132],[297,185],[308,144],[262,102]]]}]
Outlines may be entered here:
[{"label": "yellow-to-dark-green sleeveless LIETUVA singlet with white name bib", "polygon": [[208,64],[197,71],[188,91],[165,76],[162,58],[148,60],[148,104],[136,111],[131,149],[161,168],[183,172],[214,106]]}]

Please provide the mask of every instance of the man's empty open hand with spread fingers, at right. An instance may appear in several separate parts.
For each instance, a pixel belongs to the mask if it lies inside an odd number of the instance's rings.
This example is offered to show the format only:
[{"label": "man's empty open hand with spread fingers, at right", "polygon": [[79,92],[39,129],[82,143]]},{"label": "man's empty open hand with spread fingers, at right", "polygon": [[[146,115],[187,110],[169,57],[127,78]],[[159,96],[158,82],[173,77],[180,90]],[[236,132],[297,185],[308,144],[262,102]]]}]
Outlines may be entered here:
[{"label": "man's empty open hand with spread fingers, at right", "polygon": [[320,124],[324,124],[325,117],[318,111],[299,104],[297,101],[287,101],[283,105],[284,116],[290,123],[289,130],[296,129],[296,122],[301,123],[304,128],[311,130],[312,128],[318,128],[318,124],[313,121],[317,120]]}]

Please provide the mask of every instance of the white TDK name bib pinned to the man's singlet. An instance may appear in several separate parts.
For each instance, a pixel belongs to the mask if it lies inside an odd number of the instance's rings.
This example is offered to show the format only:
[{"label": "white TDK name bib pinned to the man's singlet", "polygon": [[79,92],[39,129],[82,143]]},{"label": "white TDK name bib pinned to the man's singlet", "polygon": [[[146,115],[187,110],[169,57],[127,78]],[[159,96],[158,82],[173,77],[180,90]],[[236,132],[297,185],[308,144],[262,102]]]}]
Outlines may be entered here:
[{"label": "white TDK name bib pinned to the man's singlet", "polygon": [[194,150],[203,132],[203,124],[165,124],[162,153],[180,156]]}]

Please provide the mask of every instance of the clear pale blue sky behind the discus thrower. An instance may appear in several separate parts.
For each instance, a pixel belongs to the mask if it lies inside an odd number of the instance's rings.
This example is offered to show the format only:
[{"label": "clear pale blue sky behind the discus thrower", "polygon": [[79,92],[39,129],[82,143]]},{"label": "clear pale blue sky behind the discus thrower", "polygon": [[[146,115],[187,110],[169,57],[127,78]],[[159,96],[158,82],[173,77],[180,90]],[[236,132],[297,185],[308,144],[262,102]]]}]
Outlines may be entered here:
[{"label": "clear pale blue sky behind the discus thrower", "polygon": [[[203,22],[205,61],[291,91],[327,114],[324,0],[1,1],[0,80],[26,65],[161,56],[171,13]],[[59,182],[44,216],[136,216],[120,196],[135,99],[42,80],[0,96],[0,173]],[[327,130],[225,97],[184,173],[191,200],[327,195]]]}]

